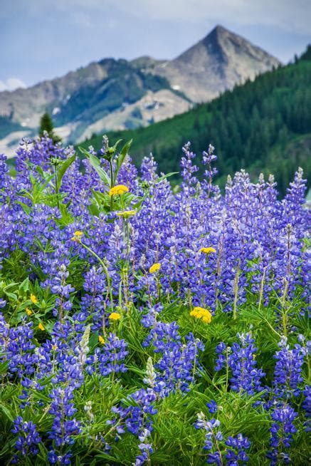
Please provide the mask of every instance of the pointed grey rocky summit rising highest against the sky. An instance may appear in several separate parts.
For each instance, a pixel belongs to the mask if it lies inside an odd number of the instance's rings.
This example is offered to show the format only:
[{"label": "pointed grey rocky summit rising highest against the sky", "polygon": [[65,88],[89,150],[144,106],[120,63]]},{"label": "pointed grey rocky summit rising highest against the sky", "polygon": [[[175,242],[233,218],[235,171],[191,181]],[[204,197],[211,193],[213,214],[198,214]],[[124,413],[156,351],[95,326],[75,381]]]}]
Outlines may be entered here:
[{"label": "pointed grey rocky summit rising highest against the sky", "polygon": [[193,102],[204,102],[279,64],[262,48],[218,24],[201,41],[155,69]]}]

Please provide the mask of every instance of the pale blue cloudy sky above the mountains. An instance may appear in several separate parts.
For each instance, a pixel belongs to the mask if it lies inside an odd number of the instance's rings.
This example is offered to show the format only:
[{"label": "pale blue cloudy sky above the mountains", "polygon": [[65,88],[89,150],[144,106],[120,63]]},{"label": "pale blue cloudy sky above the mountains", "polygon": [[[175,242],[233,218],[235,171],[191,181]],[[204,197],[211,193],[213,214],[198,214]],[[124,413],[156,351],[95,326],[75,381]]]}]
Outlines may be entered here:
[{"label": "pale blue cloudy sky above the mountains", "polygon": [[311,0],[0,0],[0,90],[105,57],[174,58],[216,24],[286,63],[311,43]]}]

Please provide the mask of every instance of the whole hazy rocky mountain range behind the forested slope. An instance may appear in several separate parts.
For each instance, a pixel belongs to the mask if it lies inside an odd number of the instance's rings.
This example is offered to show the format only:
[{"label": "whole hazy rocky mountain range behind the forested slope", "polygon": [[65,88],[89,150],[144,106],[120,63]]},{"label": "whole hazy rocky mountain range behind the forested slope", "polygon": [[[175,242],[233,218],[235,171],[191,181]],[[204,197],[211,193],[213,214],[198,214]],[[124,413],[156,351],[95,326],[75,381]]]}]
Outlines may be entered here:
[{"label": "whole hazy rocky mountain range behind the forested slope", "polygon": [[76,142],[184,113],[278,65],[276,58],[222,26],[172,61],[105,58],[31,88],[1,92],[0,152],[12,152],[22,136],[36,134],[46,110],[56,133]]}]

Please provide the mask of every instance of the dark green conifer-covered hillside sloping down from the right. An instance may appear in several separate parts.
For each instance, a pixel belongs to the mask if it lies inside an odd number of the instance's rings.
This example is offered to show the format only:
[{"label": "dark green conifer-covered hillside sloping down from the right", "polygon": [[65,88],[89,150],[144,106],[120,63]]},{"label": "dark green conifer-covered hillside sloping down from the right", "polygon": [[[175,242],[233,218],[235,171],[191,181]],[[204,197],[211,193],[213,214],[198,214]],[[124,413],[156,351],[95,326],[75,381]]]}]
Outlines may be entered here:
[{"label": "dark green conifer-covered hillside sloping down from the right", "polygon": [[[138,130],[110,133],[111,140],[133,138],[135,162],[153,152],[159,169],[179,169],[181,145],[194,152],[216,147],[220,182],[241,167],[251,175],[273,172],[284,192],[297,166],[310,178],[311,46],[288,66],[226,91],[211,103]],[[83,143],[98,149],[101,135]]]}]

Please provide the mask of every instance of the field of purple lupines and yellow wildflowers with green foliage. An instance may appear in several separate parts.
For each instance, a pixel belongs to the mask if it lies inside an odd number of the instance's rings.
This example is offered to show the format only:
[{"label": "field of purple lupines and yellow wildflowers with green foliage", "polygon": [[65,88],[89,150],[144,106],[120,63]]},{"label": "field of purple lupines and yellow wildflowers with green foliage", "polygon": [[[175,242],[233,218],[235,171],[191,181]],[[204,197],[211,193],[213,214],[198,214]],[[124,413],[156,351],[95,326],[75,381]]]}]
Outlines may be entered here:
[{"label": "field of purple lupines and yellow wildflowers with green foliage", "polygon": [[178,187],[121,147],[0,156],[0,463],[309,464],[302,170],[223,195],[211,145]]}]

